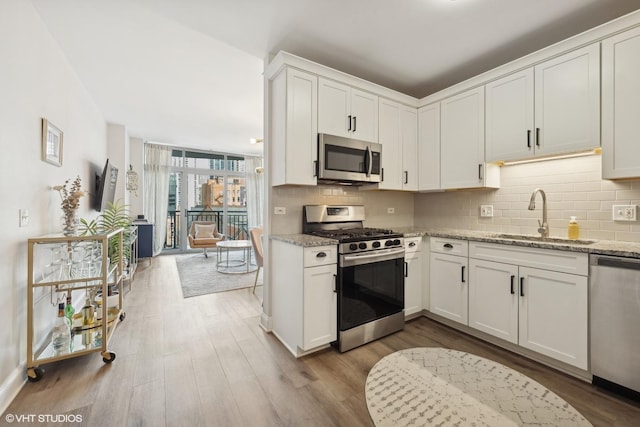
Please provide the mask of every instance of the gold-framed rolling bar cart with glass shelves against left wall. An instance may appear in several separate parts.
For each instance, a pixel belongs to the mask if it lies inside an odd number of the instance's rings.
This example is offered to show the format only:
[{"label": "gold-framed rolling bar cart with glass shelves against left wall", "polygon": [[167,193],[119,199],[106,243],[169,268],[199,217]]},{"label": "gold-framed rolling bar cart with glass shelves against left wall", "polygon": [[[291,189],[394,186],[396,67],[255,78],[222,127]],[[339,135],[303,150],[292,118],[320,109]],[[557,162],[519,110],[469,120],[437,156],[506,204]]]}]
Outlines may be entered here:
[{"label": "gold-framed rolling bar cart with glass shelves against left wall", "polygon": [[[108,351],[108,344],[118,322],[125,317],[122,231],[87,236],[54,234],[28,240],[29,381],[42,378],[44,370],[40,365],[46,363],[98,351],[105,363],[115,359],[115,353]],[[47,295],[48,300],[45,299]],[[103,295],[108,298],[103,299]],[[115,300],[114,296],[117,296]],[[51,325],[55,320],[53,308],[65,300],[72,307],[74,300],[87,301],[90,305],[83,309],[89,307],[91,316],[83,319],[84,310],[79,306],[72,308],[70,312],[75,314],[69,318],[69,345],[54,349],[51,342]],[[102,303],[105,300],[107,303]],[[93,303],[98,305],[95,313]]]}]

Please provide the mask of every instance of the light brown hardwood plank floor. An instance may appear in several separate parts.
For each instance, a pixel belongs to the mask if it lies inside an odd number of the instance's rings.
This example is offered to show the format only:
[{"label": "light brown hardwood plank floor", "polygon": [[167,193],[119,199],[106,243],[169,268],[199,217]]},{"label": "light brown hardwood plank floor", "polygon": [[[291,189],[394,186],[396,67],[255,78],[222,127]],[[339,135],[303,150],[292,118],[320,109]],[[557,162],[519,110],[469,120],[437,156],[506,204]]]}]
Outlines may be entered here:
[{"label": "light brown hardwood plank floor", "polygon": [[251,289],[183,299],[174,256],[144,264],[110,346],[117,359],[106,365],[95,353],[45,365],[42,380],[27,383],[5,414],[80,415],[81,424],[68,425],[92,427],[371,426],[370,368],[396,350],[439,346],[524,373],[594,426],[640,424],[637,403],[425,318],[344,354],[296,360],[258,326],[261,303]]}]

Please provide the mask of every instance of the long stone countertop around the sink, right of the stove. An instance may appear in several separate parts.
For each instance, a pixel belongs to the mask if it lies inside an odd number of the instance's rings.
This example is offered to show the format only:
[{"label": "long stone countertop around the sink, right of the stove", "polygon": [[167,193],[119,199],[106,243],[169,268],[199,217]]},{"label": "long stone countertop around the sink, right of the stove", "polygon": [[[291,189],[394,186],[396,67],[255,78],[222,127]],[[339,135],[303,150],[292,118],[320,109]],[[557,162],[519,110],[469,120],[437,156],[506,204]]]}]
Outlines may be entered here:
[{"label": "long stone countertop around the sink, right of the stove", "polygon": [[[460,230],[460,229],[430,229],[421,227],[400,227],[394,231],[403,233],[405,237],[430,236],[451,239],[473,240],[478,242],[500,243],[505,245],[526,246],[531,248],[557,249],[563,251],[584,252],[590,254],[624,256],[640,258],[640,243],[614,240],[593,240],[590,244],[569,242],[519,240],[499,236],[503,233]],[[552,236],[553,238],[553,236]],[[581,239],[582,240],[582,239]],[[584,239],[588,240],[588,239]]]}]

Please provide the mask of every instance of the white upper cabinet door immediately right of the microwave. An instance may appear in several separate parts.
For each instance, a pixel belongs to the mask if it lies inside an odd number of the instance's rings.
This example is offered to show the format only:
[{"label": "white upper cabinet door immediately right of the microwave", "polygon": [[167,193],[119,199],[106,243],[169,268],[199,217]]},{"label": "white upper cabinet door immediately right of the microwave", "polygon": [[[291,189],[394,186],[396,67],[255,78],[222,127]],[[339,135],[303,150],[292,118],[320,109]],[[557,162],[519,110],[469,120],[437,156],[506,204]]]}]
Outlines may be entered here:
[{"label": "white upper cabinet door immediately right of the microwave", "polygon": [[378,123],[379,143],[382,144],[382,182],[378,188],[402,189],[402,151],[400,141],[400,104],[380,99]]}]

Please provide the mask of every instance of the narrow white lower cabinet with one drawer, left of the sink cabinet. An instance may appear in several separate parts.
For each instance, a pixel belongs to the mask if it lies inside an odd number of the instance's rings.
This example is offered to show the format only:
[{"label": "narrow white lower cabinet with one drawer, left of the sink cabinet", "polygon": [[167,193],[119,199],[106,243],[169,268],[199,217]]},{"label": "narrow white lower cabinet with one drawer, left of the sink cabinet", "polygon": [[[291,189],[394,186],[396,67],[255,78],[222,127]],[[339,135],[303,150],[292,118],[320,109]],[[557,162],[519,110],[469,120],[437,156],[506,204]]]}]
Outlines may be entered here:
[{"label": "narrow white lower cabinet with one drawer, left of the sink cabinet", "polygon": [[429,260],[429,310],[463,325],[468,324],[466,245],[463,240],[432,238]]}]

